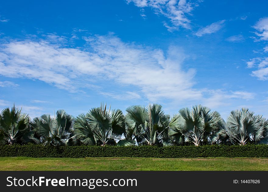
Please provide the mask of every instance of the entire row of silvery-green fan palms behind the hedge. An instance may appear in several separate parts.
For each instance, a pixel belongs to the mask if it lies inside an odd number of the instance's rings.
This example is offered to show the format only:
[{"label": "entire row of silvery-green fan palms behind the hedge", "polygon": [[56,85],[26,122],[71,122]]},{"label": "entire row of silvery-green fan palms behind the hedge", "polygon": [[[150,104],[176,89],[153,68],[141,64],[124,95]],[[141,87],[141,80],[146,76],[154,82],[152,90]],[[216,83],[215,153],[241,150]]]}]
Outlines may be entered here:
[{"label": "entire row of silvery-green fan palms behind the hedge", "polygon": [[64,110],[30,120],[15,107],[0,114],[0,143],[42,145],[245,145],[268,144],[268,120],[249,109],[231,111],[226,122],[220,113],[196,105],[171,117],[162,106],[130,106],[124,115],[106,104],[76,118]]}]

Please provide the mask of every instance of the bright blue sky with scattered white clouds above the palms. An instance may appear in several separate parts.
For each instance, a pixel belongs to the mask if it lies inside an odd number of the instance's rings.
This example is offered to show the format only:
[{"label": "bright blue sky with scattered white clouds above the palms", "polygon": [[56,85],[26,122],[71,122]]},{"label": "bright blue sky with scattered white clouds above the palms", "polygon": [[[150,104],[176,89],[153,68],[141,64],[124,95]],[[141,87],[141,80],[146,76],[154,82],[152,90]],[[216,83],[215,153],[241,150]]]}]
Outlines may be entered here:
[{"label": "bright blue sky with scattered white clouds above the palms", "polygon": [[2,1],[0,110],[101,102],[268,117],[267,1]]}]

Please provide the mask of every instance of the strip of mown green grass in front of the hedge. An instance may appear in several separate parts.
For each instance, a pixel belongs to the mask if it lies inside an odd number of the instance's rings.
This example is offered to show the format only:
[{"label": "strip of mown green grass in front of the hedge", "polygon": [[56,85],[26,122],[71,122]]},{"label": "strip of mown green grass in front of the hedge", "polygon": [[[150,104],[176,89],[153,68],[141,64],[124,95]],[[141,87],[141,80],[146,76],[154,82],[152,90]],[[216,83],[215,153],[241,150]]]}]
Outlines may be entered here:
[{"label": "strip of mown green grass in front of the hedge", "polygon": [[268,159],[0,157],[0,170],[268,170]]}]

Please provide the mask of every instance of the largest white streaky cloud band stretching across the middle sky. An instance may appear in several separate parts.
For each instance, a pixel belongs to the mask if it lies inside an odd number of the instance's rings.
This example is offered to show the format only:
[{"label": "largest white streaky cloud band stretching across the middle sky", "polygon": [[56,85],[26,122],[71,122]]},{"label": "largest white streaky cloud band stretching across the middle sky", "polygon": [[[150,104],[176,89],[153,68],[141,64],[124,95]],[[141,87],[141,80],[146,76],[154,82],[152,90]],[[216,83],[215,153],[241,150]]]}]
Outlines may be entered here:
[{"label": "largest white streaky cloud band stretching across the middle sky", "polygon": [[[83,38],[84,50],[66,48],[48,40],[12,41],[0,47],[0,75],[29,78],[53,84],[70,92],[92,89],[118,100],[150,102],[202,101],[209,106],[227,105],[230,99],[250,99],[243,92],[196,89],[195,69],[184,69],[183,49],[161,49],[125,43],[113,34]],[[58,42],[58,41],[56,41]],[[100,85],[124,87],[124,92],[105,92]],[[115,89],[118,90],[118,89]],[[33,103],[44,101],[32,100]],[[30,112],[30,108],[27,108]],[[40,114],[41,109],[31,112]]]}]

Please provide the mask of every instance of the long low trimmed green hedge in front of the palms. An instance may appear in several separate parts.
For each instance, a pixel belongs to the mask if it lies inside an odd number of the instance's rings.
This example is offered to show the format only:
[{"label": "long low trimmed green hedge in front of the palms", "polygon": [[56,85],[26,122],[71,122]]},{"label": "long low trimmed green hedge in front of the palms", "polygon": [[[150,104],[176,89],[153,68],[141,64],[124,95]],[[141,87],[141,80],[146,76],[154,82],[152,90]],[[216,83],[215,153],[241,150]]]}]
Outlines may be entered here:
[{"label": "long low trimmed green hedge in front of the palms", "polygon": [[268,145],[245,146],[0,146],[0,157],[268,157]]}]

